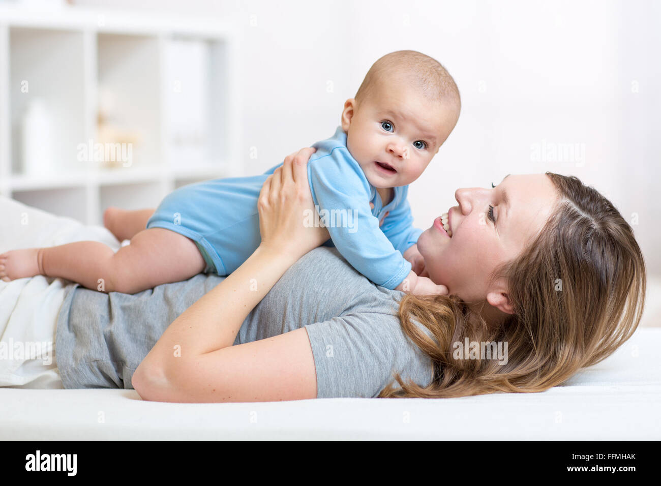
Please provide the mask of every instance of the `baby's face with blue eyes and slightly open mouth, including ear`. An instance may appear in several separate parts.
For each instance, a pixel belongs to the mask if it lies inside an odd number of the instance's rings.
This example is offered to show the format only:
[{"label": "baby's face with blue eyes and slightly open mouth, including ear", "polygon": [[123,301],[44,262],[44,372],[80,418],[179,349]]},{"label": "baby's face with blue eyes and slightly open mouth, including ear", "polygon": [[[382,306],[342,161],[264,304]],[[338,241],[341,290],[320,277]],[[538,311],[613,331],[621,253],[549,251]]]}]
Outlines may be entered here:
[{"label": "baby's face with blue eyes and slightly open mouth, including ear", "polygon": [[420,177],[457,122],[453,104],[431,102],[406,83],[377,87],[356,106],[347,100],[347,148],[370,184],[405,186]]}]

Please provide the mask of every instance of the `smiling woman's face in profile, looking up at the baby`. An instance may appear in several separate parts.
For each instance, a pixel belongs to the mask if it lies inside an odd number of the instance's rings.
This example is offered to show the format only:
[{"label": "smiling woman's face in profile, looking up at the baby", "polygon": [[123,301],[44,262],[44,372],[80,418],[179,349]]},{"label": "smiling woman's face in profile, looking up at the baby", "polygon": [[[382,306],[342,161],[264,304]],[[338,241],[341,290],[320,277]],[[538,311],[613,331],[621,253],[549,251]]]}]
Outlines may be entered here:
[{"label": "smiling woman's face in profile, looking up at the baby", "polygon": [[541,231],[557,201],[555,186],[544,174],[510,175],[495,188],[457,189],[455,198],[452,236],[434,223],[418,239],[429,276],[465,302],[486,299],[509,312],[507,282],[490,276]]}]

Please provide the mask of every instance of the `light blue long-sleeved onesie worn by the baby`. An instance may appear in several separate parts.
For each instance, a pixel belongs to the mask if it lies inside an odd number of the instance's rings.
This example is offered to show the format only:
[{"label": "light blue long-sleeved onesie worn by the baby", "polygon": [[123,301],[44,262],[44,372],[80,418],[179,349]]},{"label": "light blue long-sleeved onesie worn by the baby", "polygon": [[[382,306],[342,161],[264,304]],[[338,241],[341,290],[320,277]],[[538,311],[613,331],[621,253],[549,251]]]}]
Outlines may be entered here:
[{"label": "light blue long-sleeved onesie worn by the baby", "polygon": [[[422,229],[412,227],[408,186],[393,188],[391,202],[381,197],[346,147],[338,126],[334,136],[313,145],[307,177],[319,214],[331,240],[358,272],[392,290],[411,270],[402,256],[418,241]],[[182,186],[163,199],[147,228],[176,231],[196,242],[206,271],[229,275],[259,246],[257,198],[262,184],[282,163],[251,177],[212,179]],[[369,203],[374,208],[369,208]],[[389,212],[383,225],[379,220]]]}]

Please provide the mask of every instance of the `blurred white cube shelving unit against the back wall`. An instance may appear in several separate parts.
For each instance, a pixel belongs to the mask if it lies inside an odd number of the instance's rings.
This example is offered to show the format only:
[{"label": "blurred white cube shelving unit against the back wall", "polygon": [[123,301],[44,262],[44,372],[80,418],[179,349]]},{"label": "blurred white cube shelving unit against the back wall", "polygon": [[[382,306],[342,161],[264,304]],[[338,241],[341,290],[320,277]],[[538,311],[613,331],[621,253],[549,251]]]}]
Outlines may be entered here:
[{"label": "blurred white cube shelving unit against the back wall", "polygon": [[[202,19],[0,7],[0,194],[98,224],[107,206],[153,207],[178,186],[243,175],[235,38]],[[52,120],[37,173],[22,164],[32,99]],[[99,128],[106,106],[123,139]],[[95,157],[120,147],[108,140],[126,141],[111,165]]]}]

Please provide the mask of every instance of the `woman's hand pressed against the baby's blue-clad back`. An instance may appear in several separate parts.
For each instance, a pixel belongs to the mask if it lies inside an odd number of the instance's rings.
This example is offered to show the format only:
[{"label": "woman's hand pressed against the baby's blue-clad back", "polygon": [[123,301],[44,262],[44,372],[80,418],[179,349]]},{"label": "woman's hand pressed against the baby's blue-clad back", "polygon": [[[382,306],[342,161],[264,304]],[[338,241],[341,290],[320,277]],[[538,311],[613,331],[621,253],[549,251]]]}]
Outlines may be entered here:
[{"label": "woman's hand pressed against the baby's blue-clad back", "polygon": [[329,239],[307,181],[307,161],[315,151],[307,147],[288,155],[264,182],[257,202],[261,247],[299,259]]}]

